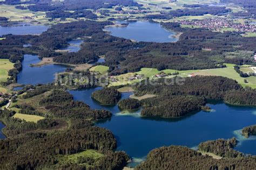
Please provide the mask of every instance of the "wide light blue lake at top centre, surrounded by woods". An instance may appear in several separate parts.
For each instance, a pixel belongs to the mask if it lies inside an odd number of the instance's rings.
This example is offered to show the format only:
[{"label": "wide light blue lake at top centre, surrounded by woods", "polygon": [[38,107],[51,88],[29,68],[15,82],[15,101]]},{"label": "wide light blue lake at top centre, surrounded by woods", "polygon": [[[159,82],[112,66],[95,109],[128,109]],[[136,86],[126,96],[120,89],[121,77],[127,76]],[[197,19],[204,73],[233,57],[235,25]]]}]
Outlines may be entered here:
[{"label": "wide light blue lake at top centre, surrounded by woods", "polygon": [[126,39],[133,39],[138,42],[157,42],[168,43],[176,42],[174,32],[168,31],[153,22],[132,22],[124,27],[109,27],[105,30],[110,31],[111,35]]}]

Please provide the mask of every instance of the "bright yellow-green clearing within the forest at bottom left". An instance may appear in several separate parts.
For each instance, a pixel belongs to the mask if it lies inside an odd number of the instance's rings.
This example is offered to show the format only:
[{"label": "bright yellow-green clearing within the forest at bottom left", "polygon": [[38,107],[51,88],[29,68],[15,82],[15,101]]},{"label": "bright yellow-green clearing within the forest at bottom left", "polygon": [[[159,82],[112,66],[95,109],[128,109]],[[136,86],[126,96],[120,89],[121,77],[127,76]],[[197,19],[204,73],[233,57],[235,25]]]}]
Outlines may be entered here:
[{"label": "bright yellow-green clearing within the forest at bottom left", "polygon": [[[104,157],[103,154],[93,150],[93,149],[88,149],[83,152],[79,152],[76,154],[71,154],[71,155],[65,155],[65,156],[60,156],[59,157],[59,164],[83,164],[86,166],[89,166],[86,164],[86,162],[80,161],[82,159],[90,158],[94,159],[97,161],[97,159]],[[82,158],[82,159],[81,159]]]}]

